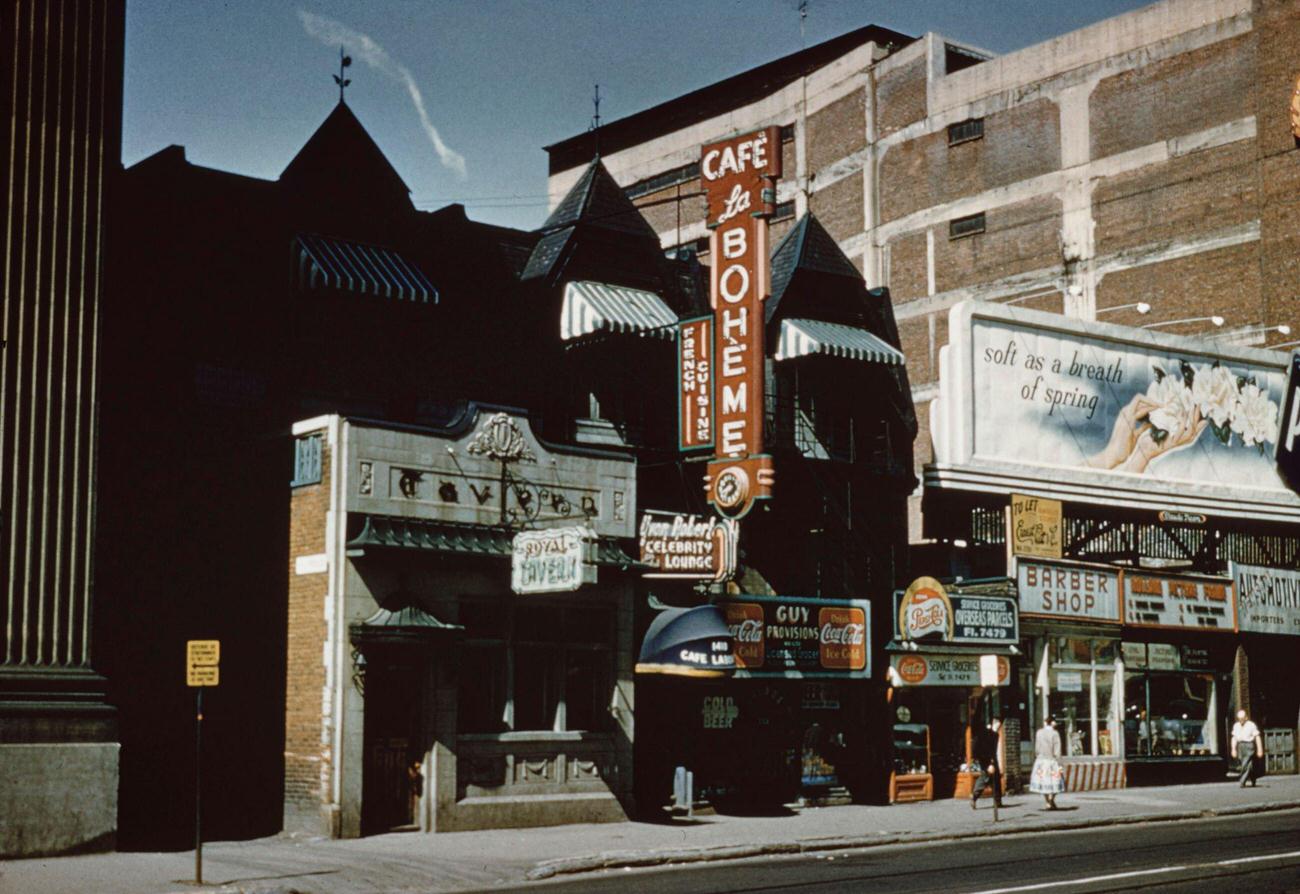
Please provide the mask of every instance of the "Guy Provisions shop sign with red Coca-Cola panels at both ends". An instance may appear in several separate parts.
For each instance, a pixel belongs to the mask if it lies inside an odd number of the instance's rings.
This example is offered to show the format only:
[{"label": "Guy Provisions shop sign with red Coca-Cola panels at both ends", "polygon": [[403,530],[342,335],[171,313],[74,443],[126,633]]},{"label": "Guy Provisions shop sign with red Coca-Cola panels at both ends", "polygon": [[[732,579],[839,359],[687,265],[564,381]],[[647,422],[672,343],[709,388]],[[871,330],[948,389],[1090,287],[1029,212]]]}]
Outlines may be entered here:
[{"label": "Guy Provisions shop sign with red Coca-Cola panels at both ends", "polygon": [[868,677],[868,606],[862,599],[751,595],[723,603],[737,676]]}]

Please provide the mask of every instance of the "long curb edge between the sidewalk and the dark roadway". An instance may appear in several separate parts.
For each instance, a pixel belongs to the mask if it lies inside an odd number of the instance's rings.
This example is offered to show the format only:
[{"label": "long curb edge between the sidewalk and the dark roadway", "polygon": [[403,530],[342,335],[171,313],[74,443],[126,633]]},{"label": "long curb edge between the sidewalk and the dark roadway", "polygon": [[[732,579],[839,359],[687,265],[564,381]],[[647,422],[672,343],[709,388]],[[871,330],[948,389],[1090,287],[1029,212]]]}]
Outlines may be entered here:
[{"label": "long curb edge between the sidewalk and the dark roadway", "polygon": [[597,872],[599,869],[632,869],[668,864],[714,863],[719,860],[741,860],[754,856],[774,856],[788,854],[816,854],[819,851],[862,850],[887,845],[918,845],[939,841],[961,841],[965,838],[992,838],[1014,836],[1026,832],[1072,832],[1096,829],[1112,825],[1136,825],[1139,823],[1176,823],[1180,820],[1208,820],[1221,816],[1242,816],[1244,813],[1266,813],[1300,810],[1300,800],[1274,800],[1262,804],[1234,804],[1231,807],[1212,807],[1199,811],[1179,811],[1175,813],[1130,813],[1084,820],[1063,820],[1034,826],[983,826],[940,833],[881,833],[876,837],[845,836],[829,838],[803,838],[798,841],[772,842],[767,845],[715,845],[711,847],[671,847],[654,851],[602,851],[589,856],[568,856],[543,860],[524,877],[529,881],[554,878],[555,876]]}]

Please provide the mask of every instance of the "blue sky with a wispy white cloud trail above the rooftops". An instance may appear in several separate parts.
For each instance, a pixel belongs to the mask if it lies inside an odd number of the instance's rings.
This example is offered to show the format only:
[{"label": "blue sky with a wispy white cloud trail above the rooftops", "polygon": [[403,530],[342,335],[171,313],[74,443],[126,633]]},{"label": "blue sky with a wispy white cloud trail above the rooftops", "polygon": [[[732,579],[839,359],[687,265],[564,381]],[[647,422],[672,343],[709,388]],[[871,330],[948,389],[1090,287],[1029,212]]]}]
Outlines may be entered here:
[{"label": "blue sky with a wispy white cloud trail above the rooftops", "polygon": [[[810,0],[806,42],[874,23],[1008,52],[1143,5]],[[416,205],[524,229],[546,214],[542,147],[586,130],[593,84],[610,121],[801,45],[798,0],[129,0],[126,26],[126,165],[179,143],[278,177],[338,100],[346,35],[348,105]]]}]

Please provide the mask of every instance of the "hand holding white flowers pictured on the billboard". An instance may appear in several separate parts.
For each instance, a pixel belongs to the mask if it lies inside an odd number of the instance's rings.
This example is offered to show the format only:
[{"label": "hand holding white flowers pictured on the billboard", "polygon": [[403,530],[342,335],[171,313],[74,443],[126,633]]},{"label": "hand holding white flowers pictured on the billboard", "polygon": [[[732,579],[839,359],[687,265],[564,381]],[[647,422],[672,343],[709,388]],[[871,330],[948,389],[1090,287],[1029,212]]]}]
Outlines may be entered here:
[{"label": "hand holding white flowers pictured on the billboard", "polygon": [[1243,447],[1265,452],[1278,439],[1278,404],[1256,378],[1239,376],[1218,361],[1178,372],[1152,366],[1144,394],[1119,411],[1105,450],[1084,459],[1098,469],[1143,473],[1152,461],[1196,443],[1205,429],[1230,447],[1235,434]]}]

